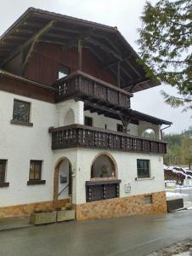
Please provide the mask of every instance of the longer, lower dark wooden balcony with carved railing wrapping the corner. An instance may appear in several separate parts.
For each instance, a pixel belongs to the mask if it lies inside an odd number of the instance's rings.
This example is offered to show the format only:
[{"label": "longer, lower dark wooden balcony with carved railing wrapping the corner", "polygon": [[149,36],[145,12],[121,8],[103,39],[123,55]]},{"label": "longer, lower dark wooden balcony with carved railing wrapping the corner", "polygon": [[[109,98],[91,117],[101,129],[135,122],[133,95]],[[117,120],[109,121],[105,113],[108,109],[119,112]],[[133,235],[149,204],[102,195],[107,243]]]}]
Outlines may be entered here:
[{"label": "longer, lower dark wooden balcony with carved railing wrapping the corner", "polygon": [[159,140],[134,137],[127,133],[99,129],[85,125],[67,125],[50,128],[52,149],[99,148],[138,153],[166,154],[167,143]]}]

